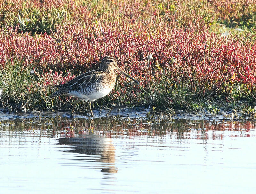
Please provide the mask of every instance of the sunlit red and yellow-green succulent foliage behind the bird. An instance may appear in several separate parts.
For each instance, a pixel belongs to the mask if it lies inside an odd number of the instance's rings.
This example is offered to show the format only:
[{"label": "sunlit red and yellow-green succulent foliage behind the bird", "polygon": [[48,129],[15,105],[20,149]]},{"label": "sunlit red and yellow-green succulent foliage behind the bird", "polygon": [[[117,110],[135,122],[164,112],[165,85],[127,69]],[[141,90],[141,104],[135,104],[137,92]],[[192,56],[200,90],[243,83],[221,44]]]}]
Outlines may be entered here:
[{"label": "sunlit red and yellow-green succulent foliage behind the bird", "polygon": [[[143,87],[163,74],[210,91],[226,88],[228,92],[227,86],[236,83],[244,84],[248,91],[255,87],[255,43],[243,35],[222,35],[210,28],[217,19],[241,20],[244,7],[250,7],[246,12],[250,17],[256,10],[251,1],[112,1],[109,7],[104,1],[97,6],[62,0],[13,2],[1,4],[2,17],[22,9],[27,10],[20,15],[24,22],[31,16],[29,10],[48,14],[46,19],[53,13],[67,15],[58,16],[44,33],[31,32],[29,20],[26,25],[11,15],[1,20],[1,65],[24,60],[24,66],[35,66],[45,85],[68,81],[98,67],[101,58],[112,56]],[[191,6],[195,8],[191,10]],[[124,88],[125,79],[120,77]],[[137,92],[141,92],[139,87],[132,94]]]}]

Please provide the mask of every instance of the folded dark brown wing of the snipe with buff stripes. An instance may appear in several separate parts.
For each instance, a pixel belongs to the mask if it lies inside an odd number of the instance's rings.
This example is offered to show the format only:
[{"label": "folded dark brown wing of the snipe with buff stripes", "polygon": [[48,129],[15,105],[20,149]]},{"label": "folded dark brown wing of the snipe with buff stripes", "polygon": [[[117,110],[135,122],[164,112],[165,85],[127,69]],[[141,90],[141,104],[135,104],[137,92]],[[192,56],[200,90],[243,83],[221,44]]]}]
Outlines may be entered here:
[{"label": "folded dark brown wing of the snipe with buff stripes", "polygon": [[78,75],[67,83],[57,85],[56,87],[64,90],[78,90],[84,85],[89,85],[98,81],[105,74],[100,69],[95,69],[84,74]]}]

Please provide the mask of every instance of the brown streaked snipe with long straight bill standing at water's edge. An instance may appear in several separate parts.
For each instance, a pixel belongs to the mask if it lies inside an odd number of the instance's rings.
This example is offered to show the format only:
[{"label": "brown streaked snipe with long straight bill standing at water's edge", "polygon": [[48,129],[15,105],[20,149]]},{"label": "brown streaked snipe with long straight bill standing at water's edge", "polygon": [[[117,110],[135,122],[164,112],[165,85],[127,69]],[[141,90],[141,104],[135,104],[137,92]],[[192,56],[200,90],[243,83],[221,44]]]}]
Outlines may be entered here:
[{"label": "brown streaked snipe with long straight bill standing at water's edge", "polygon": [[78,75],[65,84],[57,85],[56,87],[58,90],[50,97],[61,95],[78,97],[70,114],[73,114],[75,106],[79,100],[84,99],[89,101],[87,109],[90,110],[91,116],[93,117],[94,115],[92,113],[91,103],[108,95],[108,93],[114,88],[116,83],[116,73],[114,72],[115,69],[139,84],[137,80],[133,79],[130,75],[126,74],[117,66],[117,61],[115,58],[104,57],[101,60],[99,69]]}]

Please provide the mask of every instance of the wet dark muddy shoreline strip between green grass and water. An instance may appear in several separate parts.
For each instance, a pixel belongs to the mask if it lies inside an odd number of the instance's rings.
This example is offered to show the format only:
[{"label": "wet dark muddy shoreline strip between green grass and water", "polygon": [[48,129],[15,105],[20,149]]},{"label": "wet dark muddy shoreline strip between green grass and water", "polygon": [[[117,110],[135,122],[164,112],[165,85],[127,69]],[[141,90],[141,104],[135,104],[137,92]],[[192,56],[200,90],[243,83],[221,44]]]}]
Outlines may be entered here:
[{"label": "wet dark muddy shoreline strip between green grass and water", "polygon": [[[153,120],[170,120],[170,119],[186,119],[186,120],[232,120],[232,111],[219,111],[217,114],[210,113],[207,110],[204,111],[186,111],[186,110],[174,110],[175,114],[167,114],[164,112],[152,111],[145,107],[137,108],[113,108],[93,110],[94,118],[126,118],[126,119],[153,119]],[[29,119],[29,118],[43,118],[43,117],[67,117],[67,118],[84,118],[91,119],[90,114],[86,112],[75,112],[73,116],[69,115],[68,110],[60,110],[55,112],[50,111],[27,111],[27,112],[10,112],[4,113],[4,109],[0,109],[1,120],[15,120],[15,119]],[[254,120],[249,116],[246,117],[242,113],[233,113],[233,120]]]}]

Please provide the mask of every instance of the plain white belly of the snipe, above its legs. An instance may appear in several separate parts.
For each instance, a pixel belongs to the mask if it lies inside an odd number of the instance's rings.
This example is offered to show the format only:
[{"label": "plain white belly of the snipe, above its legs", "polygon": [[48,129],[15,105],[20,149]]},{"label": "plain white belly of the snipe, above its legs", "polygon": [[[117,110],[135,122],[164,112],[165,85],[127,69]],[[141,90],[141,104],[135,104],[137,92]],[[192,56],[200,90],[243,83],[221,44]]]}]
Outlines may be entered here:
[{"label": "plain white belly of the snipe, above its legs", "polygon": [[112,90],[112,88],[110,88],[110,89],[109,88],[103,88],[98,92],[93,92],[91,94],[86,94],[86,95],[74,91],[74,92],[70,92],[70,95],[71,96],[76,96],[76,97],[79,97],[79,98],[83,98],[85,101],[90,100],[90,101],[93,102],[94,100],[97,100],[99,98],[102,98],[102,97],[108,95],[109,92],[111,92],[111,90]]}]

